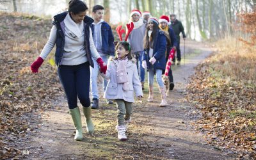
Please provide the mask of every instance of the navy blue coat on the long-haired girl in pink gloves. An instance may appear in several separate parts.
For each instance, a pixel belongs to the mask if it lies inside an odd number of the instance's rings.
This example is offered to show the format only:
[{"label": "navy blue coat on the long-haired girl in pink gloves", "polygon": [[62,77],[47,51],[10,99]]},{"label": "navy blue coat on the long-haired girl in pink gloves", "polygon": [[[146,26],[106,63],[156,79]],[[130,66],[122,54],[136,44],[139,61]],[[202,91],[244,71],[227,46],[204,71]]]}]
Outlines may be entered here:
[{"label": "navy blue coat on the long-haired girl in pink gloves", "polygon": [[[154,38],[154,49],[153,49],[153,56],[156,58],[156,63],[154,63],[154,69],[161,69],[164,70],[166,66],[166,36],[164,35],[163,31],[157,29],[157,36]],[[150,58],[149,58],[149,48],[145,49],[143,52],[143,60],[147,61],[147,66],[150,68]]]}]

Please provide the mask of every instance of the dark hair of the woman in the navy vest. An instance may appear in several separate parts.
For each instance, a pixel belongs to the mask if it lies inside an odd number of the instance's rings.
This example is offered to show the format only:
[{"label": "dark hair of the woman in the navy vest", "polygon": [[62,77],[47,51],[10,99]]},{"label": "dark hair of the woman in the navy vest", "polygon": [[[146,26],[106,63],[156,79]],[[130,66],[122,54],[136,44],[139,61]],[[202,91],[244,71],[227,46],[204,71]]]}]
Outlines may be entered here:
[{"label": "dark hair of the woman in the navy vest", "polygon": [[88,10],[88,7],[86,6],[86,4],[83,1],[80,0],[71,0],[68,3],[68,12],[72,12],[75,15],[80,13],[80,12],[84,12]]}]

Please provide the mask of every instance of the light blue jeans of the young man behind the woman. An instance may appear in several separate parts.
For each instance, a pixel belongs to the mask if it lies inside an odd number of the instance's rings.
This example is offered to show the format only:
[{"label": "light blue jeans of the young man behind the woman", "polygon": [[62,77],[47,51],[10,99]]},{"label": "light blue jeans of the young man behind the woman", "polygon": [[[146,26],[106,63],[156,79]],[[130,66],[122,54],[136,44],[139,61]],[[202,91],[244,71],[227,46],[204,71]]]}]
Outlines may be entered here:
[{"label": "light blue jeans of the young man behind the woman", "polygon": [[[108,64],[108,55],[101,56],[102,60]],[[91,83],[91,94],[93,99],[99,99],[99,92],[98,92],[98,72],[99,72],[99,65],[96,60],[93,59],[94,68],[90,67],[91,70],[91,77],[90,77],[90,83]],[[104,89],[104,92],[106,90],[106,86],[108,84],[108,80],[103,79],[102,88]]]}]

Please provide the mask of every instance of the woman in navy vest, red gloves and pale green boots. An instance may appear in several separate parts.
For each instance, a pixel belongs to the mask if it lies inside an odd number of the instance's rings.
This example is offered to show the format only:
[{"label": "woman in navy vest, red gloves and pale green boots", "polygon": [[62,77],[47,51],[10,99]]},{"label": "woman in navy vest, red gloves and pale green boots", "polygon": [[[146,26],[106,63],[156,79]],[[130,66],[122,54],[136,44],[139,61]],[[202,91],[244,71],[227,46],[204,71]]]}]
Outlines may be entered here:
[{"label": "woman in navy vest, red gloves and pale green boots", "polygon": [[69,2],[68,12],[55,15],[49,40],[40,56],[31,65],[32,72],[38,72],[38,68],[56,44],[55,63],[58,65],[58,75],[65,90],[70,115],[76,128],[75,140],[83,139],[77,97],[83,106],[87,131],[94,131],[89,97],[90,66],[94,66],[92,58],[99,64],[101,72],[106,73],[107,70],[106,64],[100,58],[93,44],[90,29],[93,19],[86,16],[87,10],[88,7],[83,1],[72,0]]}]

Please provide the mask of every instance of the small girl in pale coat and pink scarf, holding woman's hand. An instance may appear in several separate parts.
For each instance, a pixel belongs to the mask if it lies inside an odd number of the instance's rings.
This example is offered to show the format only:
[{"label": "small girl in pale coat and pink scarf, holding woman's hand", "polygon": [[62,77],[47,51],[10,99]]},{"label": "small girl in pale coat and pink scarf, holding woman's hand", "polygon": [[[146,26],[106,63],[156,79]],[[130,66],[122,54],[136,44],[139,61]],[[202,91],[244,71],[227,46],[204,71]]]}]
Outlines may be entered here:
[{"label": "small girl in pale coat and pink scarf, holding woman's hand", "polygon": [[109,60],[106,74],[100,74],[109,79],[105,99],[115,100],[118,109],[116,129],[118,140],[127,140],[125,135],[127,124],[131,122],[134,92],[136,97],[143,96],[136,64],[131,61],[131,48],[128,42],[121,41],[116,45],[116,57]]}]

